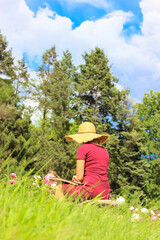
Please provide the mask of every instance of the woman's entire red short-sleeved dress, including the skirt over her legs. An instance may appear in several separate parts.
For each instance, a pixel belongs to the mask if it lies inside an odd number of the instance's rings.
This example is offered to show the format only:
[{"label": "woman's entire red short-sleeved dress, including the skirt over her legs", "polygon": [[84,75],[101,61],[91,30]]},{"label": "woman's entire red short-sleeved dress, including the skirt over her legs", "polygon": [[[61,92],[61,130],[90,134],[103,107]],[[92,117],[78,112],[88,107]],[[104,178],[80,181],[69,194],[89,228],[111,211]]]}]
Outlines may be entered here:
[{"label": "woman's entire red short-sleeved dress, including the skirt over her legs", "polygon": [[107,150],[96,144],[85,143],[77,150],[78,159],[85,160],[83,183],[80,186],[63,184],[64,194],[72,195],[73,198],[80,196],[81,199],[93,199],[96,196],[109,199],[111,189],[107,177]]}]

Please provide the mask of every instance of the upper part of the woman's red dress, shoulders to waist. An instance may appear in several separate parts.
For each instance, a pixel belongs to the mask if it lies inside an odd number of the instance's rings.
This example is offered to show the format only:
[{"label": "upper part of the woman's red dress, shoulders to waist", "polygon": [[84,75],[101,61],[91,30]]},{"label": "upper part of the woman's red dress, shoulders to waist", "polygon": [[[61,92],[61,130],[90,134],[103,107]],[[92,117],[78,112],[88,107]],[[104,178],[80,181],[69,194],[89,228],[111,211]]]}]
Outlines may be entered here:
[{"label": "upper part of the woman's red dress, shoulders to waist", "polygon": [[108,181],[109,154],[104,147],[85,143],[77,150],[78,159],[85,160],[83,184],[93,185],[97,181]]}]

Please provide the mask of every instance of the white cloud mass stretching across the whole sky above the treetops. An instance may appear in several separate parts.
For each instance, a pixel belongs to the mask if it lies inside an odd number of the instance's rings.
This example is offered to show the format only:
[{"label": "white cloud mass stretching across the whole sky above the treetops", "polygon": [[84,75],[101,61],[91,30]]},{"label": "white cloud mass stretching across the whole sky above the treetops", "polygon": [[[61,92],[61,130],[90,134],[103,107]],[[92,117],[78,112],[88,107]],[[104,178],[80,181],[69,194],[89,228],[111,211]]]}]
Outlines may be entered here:
[{"label": "white cloud mass stretching across the whole sky above the treetops", "polygon": [[[98,4],[97,0],[93,2]],[[120,79],[119,84],[130,88],[131,95],[140,100],[150,89],[160,89],[160,2],[142,0],[140,7],[142,34],[135,34],[130,40],[123,36],[123,25],[132,19],[130,12],[113,11],[72,29],[69,18],[57,15],[47,6],[34,16],[24,0],[0,1],[0,28],[18,59],[24,52],[32,61],[35,56],[40,59],[55,44],[59,55],[69,49],[74,62],[79,64],[84,51],[95,46],[103,48],[110,64],[113,63],[112,71]]]}]

